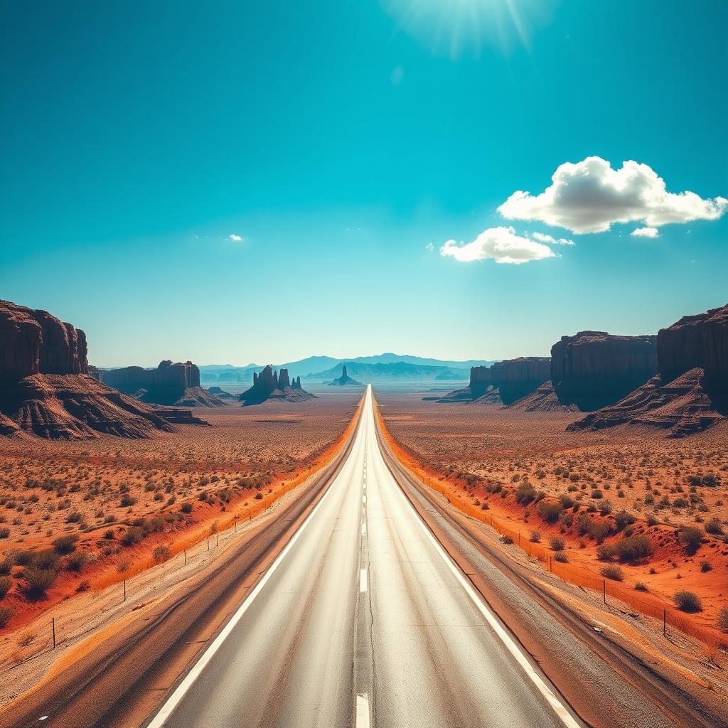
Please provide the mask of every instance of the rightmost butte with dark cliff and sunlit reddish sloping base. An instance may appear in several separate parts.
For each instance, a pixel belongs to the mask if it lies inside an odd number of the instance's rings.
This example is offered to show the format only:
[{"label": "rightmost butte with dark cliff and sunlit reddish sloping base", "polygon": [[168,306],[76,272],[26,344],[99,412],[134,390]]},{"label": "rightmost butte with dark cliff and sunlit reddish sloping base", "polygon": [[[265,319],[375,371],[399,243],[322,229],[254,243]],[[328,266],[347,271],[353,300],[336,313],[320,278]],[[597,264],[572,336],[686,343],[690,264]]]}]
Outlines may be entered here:
[{"label": "rightmost butte with dark cliff and sunlit reddish sloping base", "polygon": [[728,305],[686,316],[657,333],[657,376],[569,430],[648,425],[672,437],[700,432],[728,414]]}]

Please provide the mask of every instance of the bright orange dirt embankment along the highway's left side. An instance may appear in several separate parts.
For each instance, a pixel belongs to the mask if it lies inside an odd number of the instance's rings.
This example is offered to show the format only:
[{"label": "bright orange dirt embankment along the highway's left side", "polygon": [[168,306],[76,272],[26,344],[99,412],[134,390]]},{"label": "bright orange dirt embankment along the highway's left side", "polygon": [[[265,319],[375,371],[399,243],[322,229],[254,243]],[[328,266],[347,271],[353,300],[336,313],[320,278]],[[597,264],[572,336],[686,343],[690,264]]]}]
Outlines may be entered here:
[{"label": "bright orange dirt embankment along the highway's left side", "polygon": [[[272,507],[282,496],[294,488],[304,485],[304,483],[309,483],[336,458],[341,452],[341,448],[347,443],[349,436],[352,435],[359,421],[362,406],[363,398],[358,403],[355,414],[341,434],[323,448],[312,462],[297,470],[273,473],[265,484],[266,494],[260,490],[248,490],[233,496],[227,502],[215,499],[214,504],[195,500],[194,517],[188,516],[184,521],[167,523],[165,529],[149,533],[136,545],[120,547],[117,537],[114,537],[111,542],[103,542],[98,533],[98,531],[103,530],[103,527],[96,527],[90,529],[87,534],[81,534],[82,538],[77,542],[76,550],[83,551],[93,545],[106,543],[114,545],[114,553],[87,563],[79,572],[60,571],[55,584],[47,590],[45,598],[41,601],[28,601],[17,589],[9,592],[1,604],[9,606],[14,614],[7,626],[0,630],[0,633],[23,628],[55,604],[72,598],[79,591],[81,585],[84,591],[94,590],[100,592],[106,587],[119,584],[125,579],[141,574],[141,572],[156,566],[161,561],[167,561],[173,556],[191,549],[191,547],[204,542],[205,539],[215,539],[218,531],[230,529],[238,521],[252,521],[253,518]],[[175,510],[178,510],[181,503],[177,502]],[[172,511],[172,509],[162,509],[154,515],[157,518],[164,518],[168,510]],[[120,525],[123,524],[111,524],[111,526],[115,527]],[[124,531],[120,531],[117,536],[122,536],[123,533]],[[155,550],[159,547],[165,547],[163,554],[155,554]],[[122,562],[125,562],[124,568],[120,566]]]}]

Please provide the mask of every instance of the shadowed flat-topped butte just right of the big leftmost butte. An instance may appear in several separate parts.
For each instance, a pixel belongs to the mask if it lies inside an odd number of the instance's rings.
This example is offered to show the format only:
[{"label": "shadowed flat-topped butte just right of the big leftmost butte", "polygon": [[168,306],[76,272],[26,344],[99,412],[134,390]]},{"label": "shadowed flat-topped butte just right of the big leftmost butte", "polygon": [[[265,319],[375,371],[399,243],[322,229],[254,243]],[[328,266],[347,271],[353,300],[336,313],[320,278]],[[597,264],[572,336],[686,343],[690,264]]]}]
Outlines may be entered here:
[{"label": "shadowed flat-topped butte just right of the big leftmost butte", "polygon": [[159,363],[156,369],[127,366],[103,373],[104,384],[146,403],[181,407],[220,407],[224,403],[199,386],[199,368],[191,362]]}]

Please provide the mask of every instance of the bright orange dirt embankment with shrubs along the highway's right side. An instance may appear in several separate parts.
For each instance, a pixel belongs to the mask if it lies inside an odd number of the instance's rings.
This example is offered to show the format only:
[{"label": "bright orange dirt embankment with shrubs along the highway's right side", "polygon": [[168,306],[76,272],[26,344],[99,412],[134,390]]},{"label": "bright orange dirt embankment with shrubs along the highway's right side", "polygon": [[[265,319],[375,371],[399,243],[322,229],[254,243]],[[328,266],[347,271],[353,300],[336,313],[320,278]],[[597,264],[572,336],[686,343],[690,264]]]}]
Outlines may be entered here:
[{"label": "bright orange dirt embankment with shrubs along the highway's right side", "polygon": [[[636,591],[626,585],[621,585],[620,582],[605,579],[600,574],[604,562],[600,562],[597,558],[596,543],[586,542],[583,538],[579,539],[576,534],[571,532],[571,529],[563,529],[558,524],[546,523],[533,513],[536,510],[535,503],[531,504],[529,509],[529,506],[518,505],[512,495],[502,498],[499,492],[491,493],[483,486],[472,486],[458,482],[451,476],[438,475],[437,472],[418,462],[389,433],[376,402],[375,411],[381,433],[392,453],[418,480],[442,494],[451,505],[465,515],[492,526],[499,534],[502,534],[502,538],[511,539],[507,542],[513,542],[513,545],[537,558],[552,574],[571,584],[604,593],[605,599],[616,598],[637,612],[658,620],[664,619],[667,625],[682,630],[708,646],[725,647],[728,645],[728,636],[715,626],[719,609],[726,605],[725,596],[728,592],[725,577],[728,560],[725,558],[725,552],[719,553],[721,548],[719,542],[713,540],[708,543],[708,548],[711,550],[709,557],[714,562],[713,568],[716,569],[717,574],[714,571],[703,573],[700,569],[692,569],[687,578],[674,582],[679,550],[675,529],[660,524],[649,528],[644,522],[636,522],[633,525],[634,534],[649,532],[653,546],[653,553],[649,559],[630,565],[620,564],[625,580],[640,577],[644,582],[649,582],[649,591]],[[598,513],[589,515],[594,520],[601,518]],[[529,523],[529,518],[534,523]],[[561,553],[566,554],[568,562],[555,560],[556,551],[554,549],[548,548],[540,542],[532,541],[531,534],[534,531],[539,533],[539,541],[542,539],[548,542],[550,536],[561,537],[566,542],[565,549],[561,550]],[[605,543],[612,542],[614,539],[614,536],[608,537],[605,539]],[[700,558],[685,559],[688,563],[699,560]],[[693,571],[697,571],[697,574],[692,573]],[[681,577],[677,576],[677,578]],[[670,579],[669,585],[668,579]],[[703,611],[697,614],[679,612],[674,608],[670,587],[673,590],[692,589],[700,593],[703,596]],[[704,597],[706,593],[709,595],[708,599]]]}]

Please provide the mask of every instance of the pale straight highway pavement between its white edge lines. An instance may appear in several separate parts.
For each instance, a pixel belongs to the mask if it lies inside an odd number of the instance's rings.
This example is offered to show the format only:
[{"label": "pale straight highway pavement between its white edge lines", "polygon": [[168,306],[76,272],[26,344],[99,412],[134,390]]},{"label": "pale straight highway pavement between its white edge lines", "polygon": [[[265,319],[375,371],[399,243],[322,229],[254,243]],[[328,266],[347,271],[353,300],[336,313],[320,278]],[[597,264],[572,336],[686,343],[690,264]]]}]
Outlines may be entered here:
[{"label": "pale straight highway pavement between its white edge lines", "polygon": [[400,490],[349,456],[151,728],[576,727]]}]

